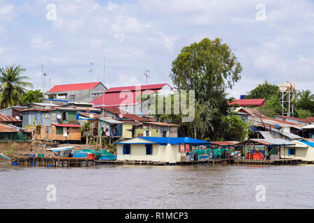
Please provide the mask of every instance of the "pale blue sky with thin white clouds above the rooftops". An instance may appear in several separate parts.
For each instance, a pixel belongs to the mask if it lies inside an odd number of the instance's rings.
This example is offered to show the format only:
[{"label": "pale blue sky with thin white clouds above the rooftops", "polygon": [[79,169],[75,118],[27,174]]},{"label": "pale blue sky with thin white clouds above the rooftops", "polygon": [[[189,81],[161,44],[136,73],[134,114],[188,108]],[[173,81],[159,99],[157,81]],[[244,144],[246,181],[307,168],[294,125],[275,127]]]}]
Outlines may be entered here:
[{"label": "pale blue sky with thin white clouds above the rooftops", "polygon": [[[184,46],[220,38],[243,68],[228,89],[292,82],[314,93],[314,1],[0,0],[0,67],[26,68],[33,89],[55,84],[168,83]],[[92,65],[92,72],[91,70]],[[104,64],[105,63],[105,64]]]}]

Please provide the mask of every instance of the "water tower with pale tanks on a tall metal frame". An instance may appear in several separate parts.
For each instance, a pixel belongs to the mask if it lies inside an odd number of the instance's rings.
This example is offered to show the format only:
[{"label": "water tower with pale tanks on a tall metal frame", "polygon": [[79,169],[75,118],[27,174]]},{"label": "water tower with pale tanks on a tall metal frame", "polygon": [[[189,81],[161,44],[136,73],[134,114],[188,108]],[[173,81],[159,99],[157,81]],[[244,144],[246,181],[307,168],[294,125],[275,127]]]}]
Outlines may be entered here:
[{"label": "water tower with pale tanks on a tall metal frame", "polygon": [[292,102],[297,96],[297,90],[295,89],[294,84],[290,82],[281,82],[281,84],[279,84],[279,91],[281,91],[281,105],[283,107],[282,115],[293,116],[295,107]]}]

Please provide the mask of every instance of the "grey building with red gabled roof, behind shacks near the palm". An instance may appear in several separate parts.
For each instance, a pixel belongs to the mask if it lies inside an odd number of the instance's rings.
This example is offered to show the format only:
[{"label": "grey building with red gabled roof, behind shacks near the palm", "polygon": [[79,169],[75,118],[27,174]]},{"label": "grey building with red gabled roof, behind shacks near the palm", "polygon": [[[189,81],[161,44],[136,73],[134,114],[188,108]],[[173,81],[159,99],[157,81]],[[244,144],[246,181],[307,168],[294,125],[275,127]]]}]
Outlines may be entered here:
[{"label": "grey building with red gabled roof, behind shacks near the palm", "polygon": [[103,95],[107,88],[102,82],[82,84],[55,85],[50,91],[45,92],[49,98],[75,102],[91,102]]}]

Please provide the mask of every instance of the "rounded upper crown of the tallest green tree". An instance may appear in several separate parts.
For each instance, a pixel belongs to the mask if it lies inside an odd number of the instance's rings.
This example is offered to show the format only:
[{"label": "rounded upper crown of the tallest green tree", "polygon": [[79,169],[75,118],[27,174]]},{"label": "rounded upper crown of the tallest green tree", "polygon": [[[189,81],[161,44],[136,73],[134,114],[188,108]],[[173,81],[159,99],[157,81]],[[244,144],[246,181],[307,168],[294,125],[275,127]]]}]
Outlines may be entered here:
[{"label": "rounded upper crown of the tallest green tree", "polygon": [[194,90],[195,99],[219,105],[220,95],[241,78],[241,64],[222,40],[204,38],[181,49],[172,62],[170,78],[177,89]]}]

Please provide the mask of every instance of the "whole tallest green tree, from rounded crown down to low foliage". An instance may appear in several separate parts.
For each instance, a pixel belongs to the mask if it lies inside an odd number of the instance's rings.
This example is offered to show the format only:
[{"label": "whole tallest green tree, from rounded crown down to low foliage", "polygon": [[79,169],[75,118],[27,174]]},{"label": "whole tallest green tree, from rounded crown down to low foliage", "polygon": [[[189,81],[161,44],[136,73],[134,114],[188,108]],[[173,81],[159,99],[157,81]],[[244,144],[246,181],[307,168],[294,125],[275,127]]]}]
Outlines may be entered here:
[{"label": "whole tallest green tree, from rounded crown down to low foliage", "polygon": [[181,125],[181,133],[200,139],[220,139],[223,118],[230,111],[226,89],[232,89],[241,78],[241,64],[222,40],[204,38],[181,49],[172,62],[170,78],[179,91],[195,91],[195,118],[190,123],[174,115],[158,116],[159,121],[171,118]]}]

